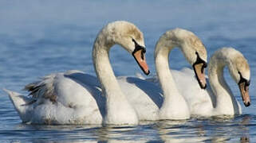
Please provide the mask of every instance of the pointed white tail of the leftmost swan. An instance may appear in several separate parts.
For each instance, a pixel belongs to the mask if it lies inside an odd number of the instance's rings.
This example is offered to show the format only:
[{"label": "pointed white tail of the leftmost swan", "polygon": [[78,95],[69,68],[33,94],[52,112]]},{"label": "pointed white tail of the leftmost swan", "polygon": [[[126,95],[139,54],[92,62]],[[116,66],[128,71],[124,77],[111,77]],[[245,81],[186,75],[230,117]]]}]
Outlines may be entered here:
[{"label": "pointed white tail of the leftmost swan", "polygon": [[10,101],[13,102],[20,118],[22,118],[22,122],[27,122],[29,118],[27,113],[29,112],[30,104],[36,100],[7,89],[3,89],[3,91],[6,91],[6,93],[9,95]]}]

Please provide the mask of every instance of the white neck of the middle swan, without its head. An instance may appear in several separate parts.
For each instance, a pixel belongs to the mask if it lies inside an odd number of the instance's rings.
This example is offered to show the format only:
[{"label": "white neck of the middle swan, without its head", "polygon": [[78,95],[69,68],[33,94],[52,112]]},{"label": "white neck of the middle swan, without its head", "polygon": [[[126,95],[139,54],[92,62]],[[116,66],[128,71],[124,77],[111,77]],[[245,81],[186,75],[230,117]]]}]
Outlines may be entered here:
[{"label": "white neck of the middle swan, without its head", "polygon": [[[189,118],[187,102],[183,99],[183,96],[179,94],[168,63],[168,56],[171,49],[175,48],[175,46],[176,44],[167,42],[166,34],[160,37],[160,40],[156,44],[156,73],[160,79],[164,96],[163,106],[160,109],[160,119],[170,117],[174,119]],[[180,45],[178,46],[179,48],[183,48]]]}]

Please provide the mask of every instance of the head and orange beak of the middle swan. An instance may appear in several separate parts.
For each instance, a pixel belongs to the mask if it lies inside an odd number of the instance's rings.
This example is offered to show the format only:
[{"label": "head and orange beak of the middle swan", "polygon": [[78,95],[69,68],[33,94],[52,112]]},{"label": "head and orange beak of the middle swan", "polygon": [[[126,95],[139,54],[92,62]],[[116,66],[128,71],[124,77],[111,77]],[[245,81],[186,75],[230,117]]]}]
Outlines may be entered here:
[{"label": "head and orange beak of the middle swan", "polygon": [[207,68],[207,50],[194,33],[185,29],[174,29],[170,32],[171,42],[175,46],[181,47],[187,61],[193,66],[199,86],[203,89],[207,87],[205,68]]}]

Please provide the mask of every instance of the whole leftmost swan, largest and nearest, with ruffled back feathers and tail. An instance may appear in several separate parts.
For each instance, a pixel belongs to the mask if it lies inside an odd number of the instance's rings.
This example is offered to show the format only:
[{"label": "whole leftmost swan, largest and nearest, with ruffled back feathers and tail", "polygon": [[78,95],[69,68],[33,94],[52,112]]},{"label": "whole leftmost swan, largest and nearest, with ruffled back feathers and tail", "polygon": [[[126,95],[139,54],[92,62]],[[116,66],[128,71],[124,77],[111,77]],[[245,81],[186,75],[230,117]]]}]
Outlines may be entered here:
[{"label": "whole leftmost swan, largest and nearest, with ruffled back feathers and tail", "polygon": [[46,75],[41,81],[26,85],[32,98],[5,90],[22,122],[136,125],[136,110],[121,91],[109,63],[108,52],[114,44],[131,53],[144,73],[149,74],[143,33],[128,21],[114,21],[101,29],[93,44],[98,80],[84,72],[69,71]]}]

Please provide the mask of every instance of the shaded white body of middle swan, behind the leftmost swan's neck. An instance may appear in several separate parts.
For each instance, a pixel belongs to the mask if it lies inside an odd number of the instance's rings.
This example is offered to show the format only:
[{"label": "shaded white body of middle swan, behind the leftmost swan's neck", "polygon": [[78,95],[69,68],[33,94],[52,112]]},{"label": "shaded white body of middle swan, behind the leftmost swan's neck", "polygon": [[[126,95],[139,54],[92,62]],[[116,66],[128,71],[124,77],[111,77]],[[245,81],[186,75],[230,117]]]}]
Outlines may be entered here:
[{"label": "shaded white body of middle swan, behind the leftmost swan's neck", "polygon": [[160,87],[136,77],[120,76],[117,79],[140,120],[156,120],[158,111],[163,104]]}]

